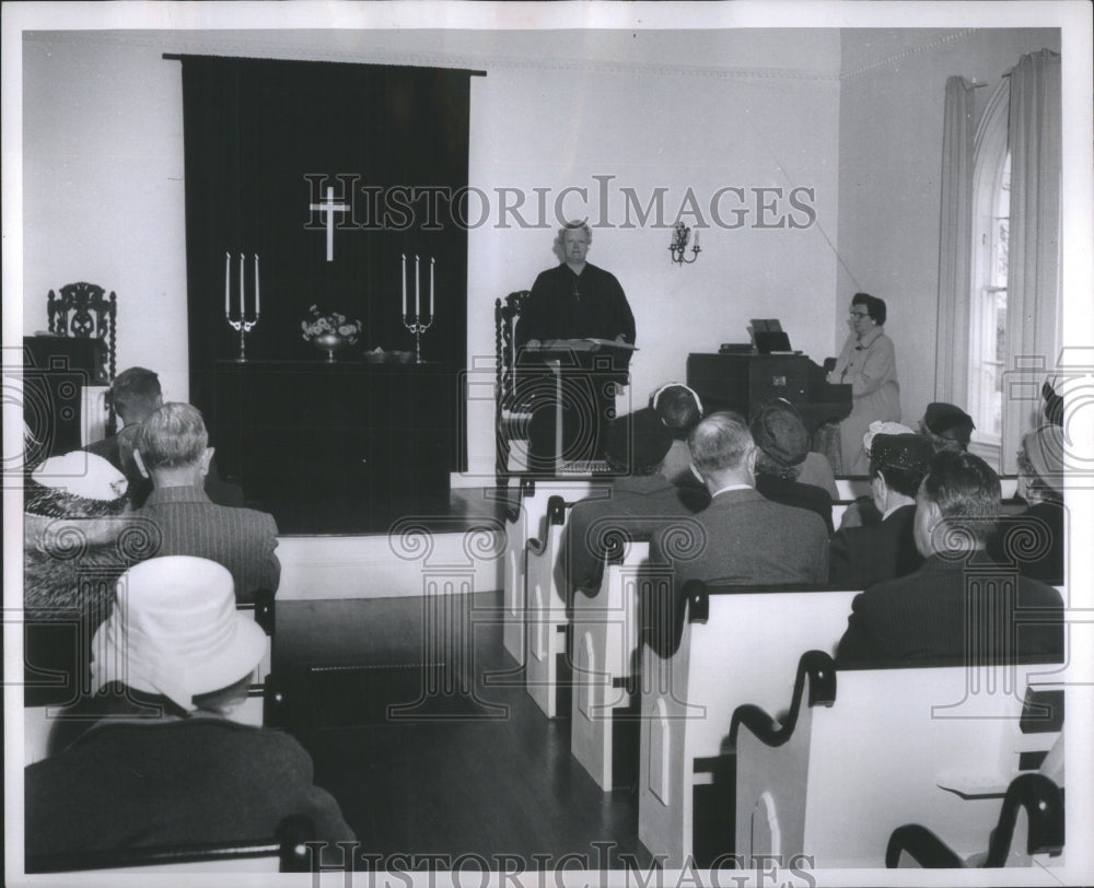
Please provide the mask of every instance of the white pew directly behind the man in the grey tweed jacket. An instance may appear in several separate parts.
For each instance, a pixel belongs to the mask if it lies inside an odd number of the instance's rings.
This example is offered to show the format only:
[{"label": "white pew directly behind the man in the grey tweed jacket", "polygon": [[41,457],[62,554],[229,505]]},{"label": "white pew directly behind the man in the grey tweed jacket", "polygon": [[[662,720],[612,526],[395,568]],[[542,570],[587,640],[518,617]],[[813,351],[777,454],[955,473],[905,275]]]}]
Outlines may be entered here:
[{"label": "white pew directly behind the man in the grey tweed jacket", "polygon": [[668,855],[666,866],[682,866],[689,855],[708,865],[708,854],[732,846],[732,832],[696,836],[695,802],[715,794],[733,711],[759,699],[771,709],[784,704],[802,653],[834,651],[857,594],[689,583],[650,606],[638,837],[652,853]]}]

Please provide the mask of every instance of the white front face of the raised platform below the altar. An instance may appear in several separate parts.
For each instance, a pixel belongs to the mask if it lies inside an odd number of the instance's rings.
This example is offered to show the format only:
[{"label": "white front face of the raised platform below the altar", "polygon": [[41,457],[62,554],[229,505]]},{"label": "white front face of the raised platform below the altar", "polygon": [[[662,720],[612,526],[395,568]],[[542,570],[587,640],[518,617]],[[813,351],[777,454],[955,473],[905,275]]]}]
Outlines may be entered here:
[{"label": "white front face of the raised platform below the altar", "polygon": [[[397,551],[385,534],[281,537],[278,600],[404,598],[491,592],[502,585],[504,541],[467,545],[465,534],[434,534],[431,546]],[[496,554],[497,553],[497,554]]]}]

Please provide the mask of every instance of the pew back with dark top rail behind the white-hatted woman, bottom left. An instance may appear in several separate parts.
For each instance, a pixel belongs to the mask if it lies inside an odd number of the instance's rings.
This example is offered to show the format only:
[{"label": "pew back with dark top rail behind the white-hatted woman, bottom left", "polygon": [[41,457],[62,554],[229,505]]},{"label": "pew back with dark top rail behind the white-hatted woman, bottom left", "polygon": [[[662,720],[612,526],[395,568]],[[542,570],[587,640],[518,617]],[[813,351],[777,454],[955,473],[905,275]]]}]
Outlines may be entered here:
[{"label": "pew back with dark top rail behind the white-hatted woman, bottom left", "polygon": [[[315,825],[307,817],[284,818],[274,836],[203,845],[114,849],[65,854],[37,854],[25,860],[27,874],[65,873],[71,884],[108,875],[135,879],[131,884],[156,885],[202,873],[309,873],[319,872],[318,855],[306,842],[315,840]],[[168,875],[177,874],[177,875]],[[136,881],[140,878],[140,883]],[[178,884],[183,884],[179,881]]]}]

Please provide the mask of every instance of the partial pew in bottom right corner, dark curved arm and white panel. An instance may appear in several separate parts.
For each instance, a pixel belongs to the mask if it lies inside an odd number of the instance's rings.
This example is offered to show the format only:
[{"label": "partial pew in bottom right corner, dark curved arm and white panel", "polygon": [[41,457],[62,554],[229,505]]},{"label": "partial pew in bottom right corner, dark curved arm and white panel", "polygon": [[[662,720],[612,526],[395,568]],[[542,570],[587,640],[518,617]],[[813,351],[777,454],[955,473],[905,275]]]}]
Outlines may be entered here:
[{"label": "partial pew in bottom right corner, dark curved arm and white panel", "polygon": [[1006,787],[999,820],[984,840],[986,853],[964,860],[931,830],[920,823],[906,823],[889,837],[885,866],[889,869],[1050,866],[1060,862],[1063,841],[1063,791],[1043,774],[1022,774]]}]

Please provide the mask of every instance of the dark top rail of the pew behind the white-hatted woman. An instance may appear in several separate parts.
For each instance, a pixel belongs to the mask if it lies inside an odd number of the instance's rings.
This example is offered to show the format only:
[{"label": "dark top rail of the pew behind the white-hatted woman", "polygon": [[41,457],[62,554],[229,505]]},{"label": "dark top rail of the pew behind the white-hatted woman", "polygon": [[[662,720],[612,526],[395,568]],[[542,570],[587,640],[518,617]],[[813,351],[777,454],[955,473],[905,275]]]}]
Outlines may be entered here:
[{"label": "dark top rail of the pew behind the white-hatted woman", "polygon": [[202,861],[280,857],[282,873],[318,872],[318,854],[310,853],[306,842],[315,841],[315,825],[303,815],[281,820],[271,838],[208,844],[127,848],[109,851],[73,851],[28,854],[25,869],[36,873],[70,873],[84,869],[120,869],[138,866],[198,863]]}]

